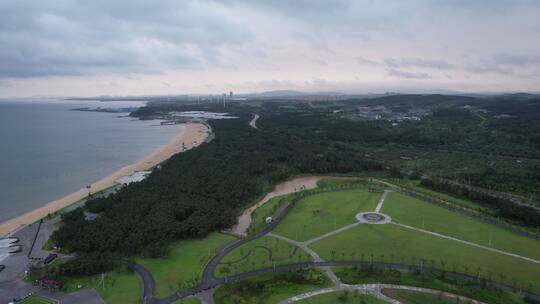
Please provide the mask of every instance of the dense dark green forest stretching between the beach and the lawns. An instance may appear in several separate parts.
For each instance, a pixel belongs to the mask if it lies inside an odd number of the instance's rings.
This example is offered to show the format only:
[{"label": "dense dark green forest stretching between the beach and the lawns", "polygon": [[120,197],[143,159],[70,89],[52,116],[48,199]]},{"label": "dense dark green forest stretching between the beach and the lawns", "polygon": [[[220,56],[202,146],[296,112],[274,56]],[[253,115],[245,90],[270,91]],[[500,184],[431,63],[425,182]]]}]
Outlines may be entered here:
[{"label": "dense dark green forest stretching between the beach and the lawns", "polygon": [[[402,122],[399,127],[384,120],[350,119],[362,101],[331,107],[322,104],[320,108],[301,102],[269,101],[257,107],[231,103],[227,112],[239,118],[210,121],[216,135],[212,142],[173,156],[140,183],[89,201],[86,208],[99,213],[95,221],[86,221],[81,209],[63,216],[64,225],[54,233],[53,240],[78,256],[64,266],[65,272],[100,272],[113,267],[121,257],[162,255],[173,239],[202,237],[230,227],[240,210],[269,185],[297,174],[370,170],[387,170],[394,175],[437,173],[447,178],[467,178],[477,186],[502,191],[539,193],[540,175],[534,168],[540,164],[535,144],[540,123],[530,117],[531,112],[540,115],[535,106],[540,102],[516,103],[511,108],[513,118],[504,120],[494,118],[509,110],[499,100],[490,103],[470,97],[401,98],[406,103],[415,100],[415,107],[431,106],[433,114],[420,122]],[[445,107],[433,100],[445,102]],[[408,106],[400,104],[397,96],[364,102],[387,102],[389,107],[400,110]],[[490,114],[482,116],[461,107],[471,102],[489,108]],[[333,114],[334,108],[343,108],[345,115]],[[151,104],[133,115],[151,118],[172,110],[220,112],[223,108],[167,102]],[[261,115],[258,130],[248,125],[252,112]],[[522,132],[527,119],[527,132]],[[443,158],[424,159],[434,151]],[[401,155],[416,157],[403,160]],[[484,155],[492,155],[496,164],[476,161]],[[516,162],[518,157],[526,162]],[[463,167],[465,162],[466,170],[453,165]],[[497,169],[499,163],[504,165],[502,169]],[[445,170],[440,164],[446,165]],[[502,214],[525,223],[534,221],[508,206],[508,210],[501,207]]]}]

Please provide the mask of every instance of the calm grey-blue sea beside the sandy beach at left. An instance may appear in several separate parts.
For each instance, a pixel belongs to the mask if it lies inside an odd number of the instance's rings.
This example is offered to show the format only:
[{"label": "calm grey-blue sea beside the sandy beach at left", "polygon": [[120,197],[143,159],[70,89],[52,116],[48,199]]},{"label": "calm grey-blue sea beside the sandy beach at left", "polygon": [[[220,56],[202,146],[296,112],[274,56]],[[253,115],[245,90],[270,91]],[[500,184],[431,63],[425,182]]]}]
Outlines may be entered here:
[{"label": "calm grey-blue sea beside the sandy beach at left", "polygon": [[118,117],[127,113],[68,111],[136,105],[0,101],[0,222],[135,163],[180,132],[178,125]]}]

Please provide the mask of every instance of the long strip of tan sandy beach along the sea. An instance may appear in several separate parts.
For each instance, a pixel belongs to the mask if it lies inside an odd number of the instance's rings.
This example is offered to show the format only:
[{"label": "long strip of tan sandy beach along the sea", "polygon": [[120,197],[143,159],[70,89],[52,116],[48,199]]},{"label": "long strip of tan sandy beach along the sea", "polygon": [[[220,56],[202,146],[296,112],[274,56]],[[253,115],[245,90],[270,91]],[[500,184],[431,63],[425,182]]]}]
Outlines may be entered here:
[{"label": "long strip of tan sandy beach along the sea", "polygon": [[[158,165],[159,163],[169,159],[174,154],[182,152],[182,143],[185,144],[188,150],[200,145],[208,136],[207,131],[208,127],[205,124],[184,124],[183,131],[166,146],[147,156],[138,163],[123,167],[113,174],[93,183],[91,186],[91,191],[95,193],[105,190],[114,186],[116,184],[115,181],[122,176],[133,174],[136,171],[148,170]],[[24,225],[34,223],[39,219],[46,217],[47,214],[54,213],[55,211],[76,203],[87,196],[88,190],[83,188],[58,200],[49,202],[40,208],[3,222],[0,224],[0,237],[8,235],[10,232],[20,229]]]}]

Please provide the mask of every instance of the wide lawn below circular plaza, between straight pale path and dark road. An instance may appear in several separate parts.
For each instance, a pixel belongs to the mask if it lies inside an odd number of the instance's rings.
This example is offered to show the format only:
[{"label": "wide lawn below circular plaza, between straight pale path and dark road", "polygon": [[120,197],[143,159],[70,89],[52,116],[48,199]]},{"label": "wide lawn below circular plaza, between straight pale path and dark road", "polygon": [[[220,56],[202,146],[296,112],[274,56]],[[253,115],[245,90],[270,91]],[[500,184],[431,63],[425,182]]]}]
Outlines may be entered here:
[{"label": "wide lawn below circular plaza, between straight pale path and dark road", "polygon": [[[466,272],[540,291],[540,265],[392,224],[360,225],[311,246],[326,260],[394,261]],[[441,263],[442,261],[442,263]]]}]

